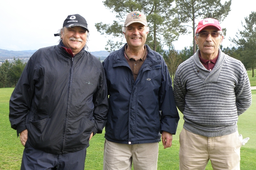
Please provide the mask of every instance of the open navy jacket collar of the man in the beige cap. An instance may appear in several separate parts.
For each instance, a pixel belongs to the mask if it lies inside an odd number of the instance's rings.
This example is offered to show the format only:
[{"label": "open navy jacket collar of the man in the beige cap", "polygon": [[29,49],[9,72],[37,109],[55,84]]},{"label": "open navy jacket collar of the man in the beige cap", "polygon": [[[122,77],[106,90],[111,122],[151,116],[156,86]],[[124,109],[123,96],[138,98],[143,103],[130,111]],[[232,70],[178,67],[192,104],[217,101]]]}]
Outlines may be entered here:
[{"label": "open navy jacket collar of the man in the beige cap", "polygon": [[[127,43],[126,43],[127,44]],[[117,67],[117,66],[127,66],[129,67],[128,62],[126,61],[126,58],[124,57],[124,48],[126,44],[123,45],[123,47],[117,51],[113,52],[113,66],[112,67]],[[147,58],[144,61],[143,65],[144,66],[151,66],[155,64],[161,63],[161,59],[159,55],[156,55],[157,53],[153,51],[149,45],[145,44],[147,48]]]}]

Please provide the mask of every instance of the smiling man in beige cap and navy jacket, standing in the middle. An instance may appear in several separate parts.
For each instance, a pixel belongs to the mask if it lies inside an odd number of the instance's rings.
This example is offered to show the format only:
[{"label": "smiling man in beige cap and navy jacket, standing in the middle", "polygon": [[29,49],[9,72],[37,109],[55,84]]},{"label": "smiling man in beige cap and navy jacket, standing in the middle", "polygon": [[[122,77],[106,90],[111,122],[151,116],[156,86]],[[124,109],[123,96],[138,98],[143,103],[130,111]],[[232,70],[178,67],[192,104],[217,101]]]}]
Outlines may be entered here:
[{"label": "smiling man in beige cap and navy jacket, standing in the middle", "polygon": [[145,44],[143,13],[129,13],[123,33],[127,44],[103,62],[109,95],[103,169],[156,170],[160,133],[170,147],[179,121],[171,79],[163,57]]}]

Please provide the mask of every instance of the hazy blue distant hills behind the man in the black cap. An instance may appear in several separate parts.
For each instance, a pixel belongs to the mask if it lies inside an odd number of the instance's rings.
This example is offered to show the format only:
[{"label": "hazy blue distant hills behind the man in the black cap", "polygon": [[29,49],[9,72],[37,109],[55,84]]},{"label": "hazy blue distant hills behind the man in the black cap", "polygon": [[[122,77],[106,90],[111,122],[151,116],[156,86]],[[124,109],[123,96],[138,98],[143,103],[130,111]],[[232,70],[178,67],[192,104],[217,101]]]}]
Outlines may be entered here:
[{"label": "hazy blue distant hills behind the man in the black cap", "polygon": [[[24,51],[9,51],[0,49],[0,62],[3,62],[7,59],[10,59],[12,62],[13,57],[24,59],[26,62],[27,60],[35,53],[36,50],[24,50]],[[96,57],[100,57],[100,60],[104,60],[108,55],[109,52],[107,51],[90,51],[90,53]]]}]

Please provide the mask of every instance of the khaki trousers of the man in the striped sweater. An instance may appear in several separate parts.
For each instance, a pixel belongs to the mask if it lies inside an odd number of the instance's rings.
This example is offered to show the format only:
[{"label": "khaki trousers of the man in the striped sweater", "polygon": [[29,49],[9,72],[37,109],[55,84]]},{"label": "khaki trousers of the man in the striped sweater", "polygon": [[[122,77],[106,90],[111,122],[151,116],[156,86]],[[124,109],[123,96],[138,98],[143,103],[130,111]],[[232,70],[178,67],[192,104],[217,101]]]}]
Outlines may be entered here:
[{"label": "khaki trousers of the man in the striped sweater", "polygon": [[214,170],[240,170],[241,146],[238,131],[208,138],[182,129],[180,170],[204,170],[209,159]]}]

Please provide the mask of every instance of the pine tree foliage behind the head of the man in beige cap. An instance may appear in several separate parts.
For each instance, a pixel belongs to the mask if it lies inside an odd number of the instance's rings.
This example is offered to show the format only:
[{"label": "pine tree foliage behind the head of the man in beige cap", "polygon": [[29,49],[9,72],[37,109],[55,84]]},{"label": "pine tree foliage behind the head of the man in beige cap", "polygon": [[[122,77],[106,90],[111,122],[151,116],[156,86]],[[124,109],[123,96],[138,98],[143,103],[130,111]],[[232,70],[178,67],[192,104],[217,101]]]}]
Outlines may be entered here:
[{"label": "pine tree foliage behind the head of the man in beige cap", "polygon": [[[174,9],[172,6],[174,0],[105,0],[106,8],[116,13],[118,21],[114,21],[112,25],[96,23],[95,27],[101,35],[112,35],[114,37],[122,37],[123,23],[128,13],[132,11],[140,11],[147,17],[147,22],[152,30],[148,34],[146,43],[152,46],[156,51],[159,41],[162,39],[167,45],[171,45],[173,41],[178,40],[179,34],[186,33],[186,29],[180,25],[177,18],[174,18]],[[109,40],[106,50],[114,51],[120,48],[121,42]],[[108,47],[110,46],[110,47]]]}]

